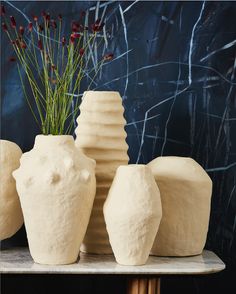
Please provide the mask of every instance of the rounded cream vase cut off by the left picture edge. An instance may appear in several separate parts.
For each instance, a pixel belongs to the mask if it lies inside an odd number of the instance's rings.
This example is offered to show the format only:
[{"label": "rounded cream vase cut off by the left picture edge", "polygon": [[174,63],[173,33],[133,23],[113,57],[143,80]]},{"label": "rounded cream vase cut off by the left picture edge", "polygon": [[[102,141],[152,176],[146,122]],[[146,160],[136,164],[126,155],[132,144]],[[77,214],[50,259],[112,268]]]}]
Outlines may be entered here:
[{"label": "rounded cream vase cut off by the left picture edge", "polygon": [[22,155],[15,143],[0,140],[0,240],[14,235],[23,224],[23,215],[12,172]]}]

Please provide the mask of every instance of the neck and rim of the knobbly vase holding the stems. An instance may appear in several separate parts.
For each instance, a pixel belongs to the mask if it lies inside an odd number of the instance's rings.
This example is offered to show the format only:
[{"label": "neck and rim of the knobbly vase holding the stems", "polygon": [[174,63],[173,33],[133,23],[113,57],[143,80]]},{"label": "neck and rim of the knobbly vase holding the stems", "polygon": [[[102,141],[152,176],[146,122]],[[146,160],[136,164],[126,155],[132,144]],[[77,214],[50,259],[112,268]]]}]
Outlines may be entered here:
[{"label": "neck and rim of the knobbly vase holding the stems", "polygon": [[64,145],[64,144],[74,144],[74,138],[71,135],[37,135],[35,137],[34,146],[45,146],[45,144],[57,144],[57,145]]}]

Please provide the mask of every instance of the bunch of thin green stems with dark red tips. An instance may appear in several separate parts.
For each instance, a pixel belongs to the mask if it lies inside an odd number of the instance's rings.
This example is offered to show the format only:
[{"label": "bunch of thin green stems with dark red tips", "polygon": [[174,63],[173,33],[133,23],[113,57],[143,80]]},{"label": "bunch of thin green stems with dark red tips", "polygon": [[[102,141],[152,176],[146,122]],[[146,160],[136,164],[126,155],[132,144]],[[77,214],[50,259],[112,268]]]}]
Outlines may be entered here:
[{"label": "bunch of thin green stems with dark red tips", "polygon": [[[2,29],[15,52],[9,60],[18,62],[23,91],[42,134],[70,134],[82,80],[90,78],[90,89],[104,62],[113,58],[112,53],[103,54],[100,59],[96,56],[94,62],[94,49],[97,52],[107,42],[103,20],[89,25],[88,13],[82,12],[79,20],[71,23],[70,35],[66,37],[62,34],[61,14],[55,20],[42,12],[40,17],[32,17],[27,28],[17,27],[14,16],[8,17],[3,5],[1,16]],[[27,93],[21,67],[32,93]]]}]

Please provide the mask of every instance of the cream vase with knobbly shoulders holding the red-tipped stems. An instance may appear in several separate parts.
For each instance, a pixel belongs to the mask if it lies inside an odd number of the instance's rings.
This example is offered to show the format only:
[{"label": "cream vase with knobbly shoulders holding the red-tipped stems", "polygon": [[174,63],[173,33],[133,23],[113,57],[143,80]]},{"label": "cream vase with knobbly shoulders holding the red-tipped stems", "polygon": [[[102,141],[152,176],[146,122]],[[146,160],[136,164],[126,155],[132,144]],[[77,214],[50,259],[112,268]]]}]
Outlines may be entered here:
[{"label": "cream vase with knobbly shoulders holding the red-tipped stems", "polygon": [[96,191],[95,161],[72,136],[39,135],[20,162],[13,175],[34,261],[75,262]]}]

